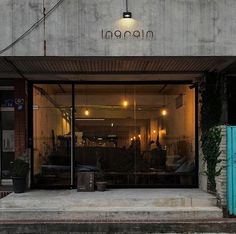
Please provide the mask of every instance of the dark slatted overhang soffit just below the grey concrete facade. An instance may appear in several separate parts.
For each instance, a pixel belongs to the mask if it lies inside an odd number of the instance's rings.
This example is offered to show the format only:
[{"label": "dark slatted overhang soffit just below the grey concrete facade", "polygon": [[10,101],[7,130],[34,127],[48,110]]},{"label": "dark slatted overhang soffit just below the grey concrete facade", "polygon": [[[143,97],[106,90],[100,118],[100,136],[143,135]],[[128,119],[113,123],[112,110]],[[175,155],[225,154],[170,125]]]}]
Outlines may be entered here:
[{"label": "dark slatted overhang soffit just below the grey concrete facade", "polygon": [[0,57],[0,78],[29,80],[194,78],[222,71],[235,57]]}]

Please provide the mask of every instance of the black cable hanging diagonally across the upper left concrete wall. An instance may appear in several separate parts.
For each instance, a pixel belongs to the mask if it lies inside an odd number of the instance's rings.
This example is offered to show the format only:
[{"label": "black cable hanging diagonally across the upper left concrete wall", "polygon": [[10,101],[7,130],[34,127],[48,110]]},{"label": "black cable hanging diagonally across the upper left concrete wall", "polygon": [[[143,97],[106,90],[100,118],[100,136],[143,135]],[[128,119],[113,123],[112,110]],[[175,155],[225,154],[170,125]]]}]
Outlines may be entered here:
[{"label": "black cable hanging diagonally across the upper left concrete wall", "polygon": [[25,38],[28,34],[30,34],[35,28],[37,28],[62,2],[65,0],[59,0],[43,17],[41,17],[36,23],[34,23],[27,31],[25,31],[21,36],[19,36],[15,41],[13,41],[10,45],[0,50],[0,54],[9,50],[12,46],[18,43],[21,39]]}]

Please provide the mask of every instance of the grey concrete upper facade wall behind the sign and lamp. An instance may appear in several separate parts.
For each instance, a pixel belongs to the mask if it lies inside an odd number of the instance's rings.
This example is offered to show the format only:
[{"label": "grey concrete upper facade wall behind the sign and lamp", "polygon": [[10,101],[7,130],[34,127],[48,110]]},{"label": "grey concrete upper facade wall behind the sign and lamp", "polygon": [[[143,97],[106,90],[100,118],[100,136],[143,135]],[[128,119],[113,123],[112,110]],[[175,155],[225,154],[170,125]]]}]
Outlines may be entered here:
[{"label": "grey concrete upper facade wall behind the sign and lamp", "polygon": [[[57,0],[45,0],[46,11]],[[0,48],[43,16],[42,0],[0,1]],[[3,55],[231,56],[236,55],[235,0],[129,0],[135,19],[119,20],[124,0],[64,0],[41,24]],[[153,39],[102,39],[102,30],[148,30]],[[146,34],[145,34],[146,35]]]}]

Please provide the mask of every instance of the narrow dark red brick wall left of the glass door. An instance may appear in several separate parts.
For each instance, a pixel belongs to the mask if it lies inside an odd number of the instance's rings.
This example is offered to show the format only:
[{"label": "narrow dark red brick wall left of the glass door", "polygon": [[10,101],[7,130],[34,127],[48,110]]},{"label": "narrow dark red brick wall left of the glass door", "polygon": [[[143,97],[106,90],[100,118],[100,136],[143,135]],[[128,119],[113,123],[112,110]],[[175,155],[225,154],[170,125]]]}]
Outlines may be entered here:
[{"label": "narrow dark red brick wall left of the glass door", "polygon": [[24,100],[23,110],[19,110],[15,105],[15,157],[19,157],[26,152],[27,148],[27,105],[26,105],[26,82],[17,80],[15,82],[15,100]]}]

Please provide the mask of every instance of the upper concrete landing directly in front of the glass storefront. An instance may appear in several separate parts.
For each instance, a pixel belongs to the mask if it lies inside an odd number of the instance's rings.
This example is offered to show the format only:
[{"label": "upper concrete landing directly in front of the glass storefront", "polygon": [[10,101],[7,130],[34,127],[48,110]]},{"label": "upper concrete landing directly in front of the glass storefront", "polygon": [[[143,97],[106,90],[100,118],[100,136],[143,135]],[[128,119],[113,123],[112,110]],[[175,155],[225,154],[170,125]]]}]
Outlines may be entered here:
[{"label": "upper concrete landing directly in front of the glass storefront", "polygon": [[[179,192],[180,191],[180,192]],[[191,193],[189,192],[191,191]],[[112,190],[106,192],[30,191],[10,194],[0,207],[212,207],[217,199],[199,190]]]}]

